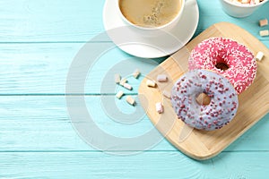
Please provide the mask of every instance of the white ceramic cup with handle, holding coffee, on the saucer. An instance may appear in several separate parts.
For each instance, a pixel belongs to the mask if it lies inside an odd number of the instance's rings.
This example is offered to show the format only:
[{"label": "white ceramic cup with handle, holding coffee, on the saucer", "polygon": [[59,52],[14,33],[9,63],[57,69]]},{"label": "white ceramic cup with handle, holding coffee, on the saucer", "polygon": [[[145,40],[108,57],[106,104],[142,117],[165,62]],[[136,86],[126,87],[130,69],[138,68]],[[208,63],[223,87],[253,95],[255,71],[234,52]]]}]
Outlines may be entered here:
[{"label": "white ceramic cup with handle, holding coffee, on the saucer", "polygon": [[[180,8],[178,10],[177,15],[171,19],[171,21],[156,27],[143,27],[134,24],[133,22],[129,21],[126,16],[121,12],[119,1],[117,0],[117,12],[118,15],[123,19],[123,21],[126,22],[130,26],[130,28],[136,30],[138,33],[141,33],[143,36],[158,36],[162,32],[167,32],[171,30],[175,25],[178,24],[178,21],[180,20],[182,13],[185,9],[186,4],[190,4],[191,2],[195,2],[195,0],[178,0],[180,1]],[[139,10],[137,10],[139,11]]]}]

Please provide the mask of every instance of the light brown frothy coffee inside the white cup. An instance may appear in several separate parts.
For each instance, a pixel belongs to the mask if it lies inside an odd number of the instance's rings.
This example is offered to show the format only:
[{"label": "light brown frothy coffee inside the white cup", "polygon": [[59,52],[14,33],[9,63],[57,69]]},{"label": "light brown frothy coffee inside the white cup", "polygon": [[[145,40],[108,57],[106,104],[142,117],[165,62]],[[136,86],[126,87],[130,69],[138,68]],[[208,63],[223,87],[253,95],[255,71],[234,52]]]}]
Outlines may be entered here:
[{"label": "light brown frothy coffee inside the white cup", "polygon": [[172,21],[181,9],[181,0],[119,0],[127,21],[141,27],[160,27]]}]

